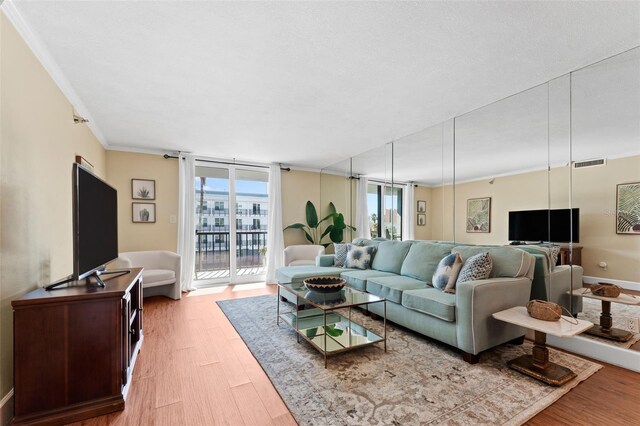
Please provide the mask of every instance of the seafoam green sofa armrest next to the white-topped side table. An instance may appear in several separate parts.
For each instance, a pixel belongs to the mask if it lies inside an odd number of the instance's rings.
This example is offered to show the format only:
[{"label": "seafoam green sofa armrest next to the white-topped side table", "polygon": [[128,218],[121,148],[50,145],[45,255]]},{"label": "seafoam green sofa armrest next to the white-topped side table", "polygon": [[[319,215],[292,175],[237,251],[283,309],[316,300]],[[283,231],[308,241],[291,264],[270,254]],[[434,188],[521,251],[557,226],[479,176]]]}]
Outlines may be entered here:
[{"label": "seafoam green sofa armrest next to the white-topped side table", "polygon": [[524,328],[498,321],[492,315],[526,305],[530,292],[531,280],[527,277],[461,283],[456,288],[458,348],[478,354],[524,335]]}]

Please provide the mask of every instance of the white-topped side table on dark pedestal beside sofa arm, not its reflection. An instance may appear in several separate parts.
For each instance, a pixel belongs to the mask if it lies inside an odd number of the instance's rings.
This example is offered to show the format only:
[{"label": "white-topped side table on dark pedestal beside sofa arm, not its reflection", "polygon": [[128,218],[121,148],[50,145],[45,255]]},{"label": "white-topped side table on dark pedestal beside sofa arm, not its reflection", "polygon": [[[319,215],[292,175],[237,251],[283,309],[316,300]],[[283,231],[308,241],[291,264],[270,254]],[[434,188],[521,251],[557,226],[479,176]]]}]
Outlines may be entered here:
[{"label": "white-topped side table on dark pedestal beside sofa arm, not its reflection", "polygon": [[[543,321],[530,317],[524,306],[496,312],[493,317],[535,332],[532,354],[512,359],[507,363],[509,367],[552,386],[562,386],[576,377],[569,368],[549,361],[549,349],[546,346],[547,334],[573,337],[591,328],[593,323],[566,316],[559,321]],[[577,324],[575,324],[576,321]]]}]

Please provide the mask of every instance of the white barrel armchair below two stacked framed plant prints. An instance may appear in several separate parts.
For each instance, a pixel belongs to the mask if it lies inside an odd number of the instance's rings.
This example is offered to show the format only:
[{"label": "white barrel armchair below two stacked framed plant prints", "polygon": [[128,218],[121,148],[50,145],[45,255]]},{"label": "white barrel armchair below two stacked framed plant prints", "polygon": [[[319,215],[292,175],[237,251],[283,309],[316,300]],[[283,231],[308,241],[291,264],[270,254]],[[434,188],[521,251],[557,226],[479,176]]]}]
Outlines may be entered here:
[{"label": "white barrel armchair below two stacked framed plant prints", "polygon": [[115,261],[116,268],[144,268],[144,297],[162,295],[176,300],[181,297],[180,266],[180,256],[164,250],[120,253]]}]

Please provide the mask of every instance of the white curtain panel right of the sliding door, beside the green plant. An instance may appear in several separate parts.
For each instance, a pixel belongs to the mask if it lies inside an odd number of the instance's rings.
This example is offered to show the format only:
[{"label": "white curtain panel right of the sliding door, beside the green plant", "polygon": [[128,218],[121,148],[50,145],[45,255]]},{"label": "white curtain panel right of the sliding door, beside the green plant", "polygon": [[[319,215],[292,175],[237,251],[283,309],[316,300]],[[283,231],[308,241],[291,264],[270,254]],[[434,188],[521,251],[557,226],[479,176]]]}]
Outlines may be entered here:
[{"label": "white curtain panel right of the sliding door, beside the green plant", "polygon": [[276,269],[284,266],[282,192],[280,166],[269,167],[269,228],[267,234],[267,283],[276,282]]}]

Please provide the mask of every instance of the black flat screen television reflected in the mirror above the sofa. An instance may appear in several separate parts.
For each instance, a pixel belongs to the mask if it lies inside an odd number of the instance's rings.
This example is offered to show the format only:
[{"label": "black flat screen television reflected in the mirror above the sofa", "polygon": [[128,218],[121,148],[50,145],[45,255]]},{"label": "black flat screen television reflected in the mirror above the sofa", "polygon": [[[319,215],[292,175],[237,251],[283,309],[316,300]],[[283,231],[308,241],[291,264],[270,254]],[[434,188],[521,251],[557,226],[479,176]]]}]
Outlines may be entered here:
[{"label": "black flat screen television reflected in the mirror above the sofa", "polygon": [[510,241],[580,241],[580,209],[509,212]]}]

